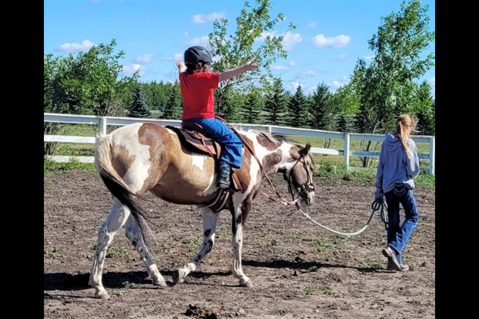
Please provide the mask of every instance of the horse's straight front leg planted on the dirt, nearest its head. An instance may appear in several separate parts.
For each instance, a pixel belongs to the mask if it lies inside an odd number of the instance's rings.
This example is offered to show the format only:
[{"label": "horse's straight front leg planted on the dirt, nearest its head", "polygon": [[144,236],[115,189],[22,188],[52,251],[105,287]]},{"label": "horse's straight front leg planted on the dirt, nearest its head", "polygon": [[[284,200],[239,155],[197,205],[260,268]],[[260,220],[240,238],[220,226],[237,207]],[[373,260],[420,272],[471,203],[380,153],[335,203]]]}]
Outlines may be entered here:
[{"label": "horse's straight front leg planted on the dirt, nearest its head", "polygon": [[[236,195],[236,194],[235,194]],[[241,194],[238,194],[241,196]],[[238,196],[237,195],[237,196]],[[239,197],[238,196],[238,197]],[[251,197],[248,196],[243,202],[237,203],[238,197],[233,198],[232,209],[232,245],[233,245],[233,276],[240,280],[241,287],[251,288],[251,280],[244,275],[241,268],[241,249],[243,247],[243,225],[251,209]]]}]

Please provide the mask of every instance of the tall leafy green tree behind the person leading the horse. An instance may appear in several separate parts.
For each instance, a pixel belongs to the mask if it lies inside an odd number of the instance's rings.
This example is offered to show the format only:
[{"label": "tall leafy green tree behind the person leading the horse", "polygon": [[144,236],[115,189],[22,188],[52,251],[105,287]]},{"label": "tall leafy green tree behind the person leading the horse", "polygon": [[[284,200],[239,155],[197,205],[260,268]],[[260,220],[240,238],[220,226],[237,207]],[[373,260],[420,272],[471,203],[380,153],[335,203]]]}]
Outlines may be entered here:
[{"label": "tall leafy green tree behind the person leading the horse", "polygon": [[[356,128],[360,133],[384,133],[394,129],[400,113],[418,113],[425,107],[416,97],[414,82],[434,66],[435,54],[421,54],[435,40],[429,30],[429,5],[421,7],[420,0],[402,2],[398,13],[382,18],[378,32],[368,41],[375,53],[370,65],[358,59],[351,83],[360,96]],[[372,142],[362,143],[361,149],[371,151]],[[363,166],[370,158],[360,158]]]}]

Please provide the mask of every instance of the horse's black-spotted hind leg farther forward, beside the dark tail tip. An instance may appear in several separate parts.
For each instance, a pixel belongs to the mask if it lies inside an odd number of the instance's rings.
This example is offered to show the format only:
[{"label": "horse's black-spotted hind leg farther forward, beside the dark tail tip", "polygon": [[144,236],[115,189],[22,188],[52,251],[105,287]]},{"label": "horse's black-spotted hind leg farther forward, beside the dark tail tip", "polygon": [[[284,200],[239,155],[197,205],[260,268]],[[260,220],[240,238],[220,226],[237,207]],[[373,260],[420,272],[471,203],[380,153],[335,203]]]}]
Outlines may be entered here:
[{"label": "horse's black-spotted hind leg farther forward, beside the dark tail tip", "polygon": [[151,258],[151,254],[146,248],[145,243],[141,236],[138,235],[138,223],[135,221],[132,215],[128,217],[125,226],[125,233],[126,237],[131,241],[133,247],[138,251],[140,254],[141,259],[145,263],[146,270],[148,275],[153,278],[153,285],[166,287],[165,279],[161,276],[160,272],[158,271],[158,267],[153,262]]}]

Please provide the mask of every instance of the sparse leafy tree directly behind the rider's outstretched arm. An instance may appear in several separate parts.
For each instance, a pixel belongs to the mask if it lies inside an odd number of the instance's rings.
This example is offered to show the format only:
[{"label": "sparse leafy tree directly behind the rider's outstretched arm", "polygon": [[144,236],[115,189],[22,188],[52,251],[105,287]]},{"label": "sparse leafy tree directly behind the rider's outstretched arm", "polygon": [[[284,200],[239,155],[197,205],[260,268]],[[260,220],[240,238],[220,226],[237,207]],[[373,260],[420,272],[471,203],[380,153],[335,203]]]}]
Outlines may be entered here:
[{"label": "sparse leafy tree directly behind the rider's outstretched arm", "polygon": [[[271,64],[278,58],[286,58],[283,49],[284,35],[267,35],[259,45],[255,41],[262,35],[275,30],[278,22],[284,20],[284,14],[278,13],[274,18],[269,15],[272,2],[256,0],[254,6],[244,2],[244,7],[236,19],[237,28],[233,34],[228,34],[228,19],[221,18],[213,22],[213,32],[209,34],[209,48],[216,62],[212,68],[215,72],[223,72],[238,67],[250,59],[255,59],[260,65],[256,72],[245,72],[233,79],[222,81],[215,90],[216,112],[222,113],[227,92],[244,84],[256,81],[261,87],[268,89],[268,79],[272,79]],[[296,28],[289,23],[284,34]],[[261,71],[262,70],[262,71]]]}]

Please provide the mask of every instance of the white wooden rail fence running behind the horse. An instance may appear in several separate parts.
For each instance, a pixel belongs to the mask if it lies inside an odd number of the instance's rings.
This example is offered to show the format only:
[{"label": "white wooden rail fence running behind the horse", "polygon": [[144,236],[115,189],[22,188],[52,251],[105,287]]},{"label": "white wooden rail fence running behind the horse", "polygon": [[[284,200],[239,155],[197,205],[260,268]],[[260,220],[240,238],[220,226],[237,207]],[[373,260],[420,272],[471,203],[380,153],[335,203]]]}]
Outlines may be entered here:
[{"label": "white wooden rail fence running behind the horse", "polygon": [[[139,119],[139,118],[121,118],[121,117],[98,117],[91,115],[70,115],[70,114],[55,114],[55,113],[43,113],[43,122],[53,123],[68,123],[68,124],[91,124],[99,125],[100,132],[106,133],[107,126],[124,126],[136,122],[149,122],[156,123],[158,125],[171,125],[180,127],[181,120],[157,120],[157,119]],[[344,156],[344,161],[348,168],[358,169],[359,167],[350,167],[349,160],[351,156],[360,157],[379,157],[379,152],[362,152],[351,151],[351,141],[382,141],[384,139],[383,134],[356,134],[356,133],[339,133],[329,132],[322,130],[311,129],[297,129],[282,127],[276,125],[255,125],[255,124],[241,124],[230,123],[232,126],[242,129],[254,129],[259,131],[267,131],[269,133],[280,133],[287,135],[302,135],[321,138],[331,138],[344,140],[344,150],[334,149],[322,149],[311,148],[311,152],[315,154],[328,154]],[[429,169],[424,170],[429,174],[435,174],[436,167],[436,137],[435,136],[413,136],[413,140],[416,143],[429,143],[429,153],[419,154],[419,159],[429,160]],[[83,137],[83,136],[62,136],[62,135],[43,135],[43,142],[62,142],[62,143],[86,143],[95,144],[95,137]],[[50,156],[51,160],[59,162],[67,162],[70,160],[70,156]],[[93,162],[93,157],[73,157],[80,162]]]}]

